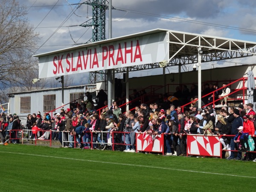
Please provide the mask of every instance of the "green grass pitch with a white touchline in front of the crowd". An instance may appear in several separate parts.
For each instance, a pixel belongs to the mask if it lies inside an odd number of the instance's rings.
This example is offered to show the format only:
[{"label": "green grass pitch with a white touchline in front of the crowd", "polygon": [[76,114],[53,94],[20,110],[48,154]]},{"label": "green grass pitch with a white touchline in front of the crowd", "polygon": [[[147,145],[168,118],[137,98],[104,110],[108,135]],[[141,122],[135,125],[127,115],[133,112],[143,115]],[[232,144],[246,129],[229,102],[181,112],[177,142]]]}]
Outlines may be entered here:
[{"label": "green grass pitch with a white touchline in front of the crowd", "polygon": [[1,191],[254,191],[256,163],[0,145]]}]

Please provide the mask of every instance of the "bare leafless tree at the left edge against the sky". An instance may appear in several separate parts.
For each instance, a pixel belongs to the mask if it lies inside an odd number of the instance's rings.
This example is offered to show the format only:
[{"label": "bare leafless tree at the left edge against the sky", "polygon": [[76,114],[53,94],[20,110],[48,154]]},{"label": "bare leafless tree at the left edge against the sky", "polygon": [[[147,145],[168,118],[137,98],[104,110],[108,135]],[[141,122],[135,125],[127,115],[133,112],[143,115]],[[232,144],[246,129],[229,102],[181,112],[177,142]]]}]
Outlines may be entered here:
[{"label": "bare leafless tree at the left edge against the sky", "polygon": [[26,7],[15,0],[1,0],[0,90],[3,94],[6,94],[6,88],[12,87],[31,90],[28,82],[38,74],[38,61],[32,55],[39,37],[26,15]]}]

